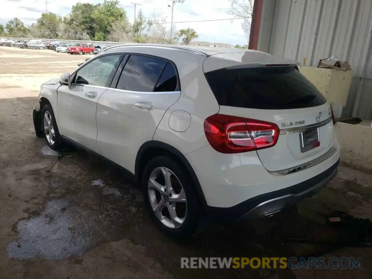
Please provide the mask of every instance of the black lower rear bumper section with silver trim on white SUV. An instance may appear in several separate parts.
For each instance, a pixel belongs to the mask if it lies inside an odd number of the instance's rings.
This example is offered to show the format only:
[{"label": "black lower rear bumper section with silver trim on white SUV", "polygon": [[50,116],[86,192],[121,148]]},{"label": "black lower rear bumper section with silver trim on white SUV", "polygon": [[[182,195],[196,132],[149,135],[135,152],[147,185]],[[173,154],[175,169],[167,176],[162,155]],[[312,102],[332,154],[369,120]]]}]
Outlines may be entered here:
[{"label": "black lower rear bumper section with silver trim on white SUV", "polygon": [[207,206],[207,214],[212,219],[254,219],[275,214],[314,195],[327,185],[337,174],[340,159],[329,169],[296,185],[248,199],[229,208]]}]

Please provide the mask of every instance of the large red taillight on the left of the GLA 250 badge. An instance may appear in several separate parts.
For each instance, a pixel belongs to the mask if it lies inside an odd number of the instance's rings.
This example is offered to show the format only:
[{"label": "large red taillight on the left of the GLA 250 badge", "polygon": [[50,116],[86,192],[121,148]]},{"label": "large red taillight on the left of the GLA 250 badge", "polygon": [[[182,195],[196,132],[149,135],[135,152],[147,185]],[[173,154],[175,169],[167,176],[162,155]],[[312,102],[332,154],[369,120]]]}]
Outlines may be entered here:
[{"label": "large red taillight on the left of the GLA 250 badge", "polygon": [[215,114],[205,119],[204,132],[218,152],[241,153],[274,146],[280,130],[266,121]]}]

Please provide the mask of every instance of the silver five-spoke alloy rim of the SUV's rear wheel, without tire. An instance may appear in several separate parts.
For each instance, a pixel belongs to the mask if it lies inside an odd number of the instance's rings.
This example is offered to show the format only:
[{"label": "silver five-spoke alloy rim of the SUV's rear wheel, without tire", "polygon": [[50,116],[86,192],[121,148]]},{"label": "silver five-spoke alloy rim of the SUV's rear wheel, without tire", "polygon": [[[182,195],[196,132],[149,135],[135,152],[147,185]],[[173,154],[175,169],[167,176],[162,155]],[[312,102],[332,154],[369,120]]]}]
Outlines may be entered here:
[{"label": "silver five-spoke alloy rim of the SUV's rear wheel, without tire", "polygon": [[166,167],[154,169],[148,180],[151,208],[168,228],[179,228],[187,214],[186,193],[177,176]]}]

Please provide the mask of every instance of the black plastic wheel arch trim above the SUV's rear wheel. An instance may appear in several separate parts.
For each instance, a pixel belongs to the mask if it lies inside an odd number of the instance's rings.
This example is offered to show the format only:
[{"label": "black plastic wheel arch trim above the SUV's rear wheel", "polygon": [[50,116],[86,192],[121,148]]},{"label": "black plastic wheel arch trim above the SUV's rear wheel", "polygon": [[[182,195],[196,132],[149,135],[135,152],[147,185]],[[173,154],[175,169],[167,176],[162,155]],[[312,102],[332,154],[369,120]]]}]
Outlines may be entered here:
[{"label": "black plastic wheel arch trim above the SUV's rear wheel", "polygon": [[186,167],[186,170],[190,174],[193,184],[195,185],[199,201],[201,202],[203,207],[206,206],[207,203],[199,179],[185,155],[183,155],[177,148],[162,141],[147,141],[142,144],[140,149],[138,150],[134,167],[138,185],[142,184],[142,173],[145,169],[146,163],[151,160],[151,158],[161,155],[169,155]]}]

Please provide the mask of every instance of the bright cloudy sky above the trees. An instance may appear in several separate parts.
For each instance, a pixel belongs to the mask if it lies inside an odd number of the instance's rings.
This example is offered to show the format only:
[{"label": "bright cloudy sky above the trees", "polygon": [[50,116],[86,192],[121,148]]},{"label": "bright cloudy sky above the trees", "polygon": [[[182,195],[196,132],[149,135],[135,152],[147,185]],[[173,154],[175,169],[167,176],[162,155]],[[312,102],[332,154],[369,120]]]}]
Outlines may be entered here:
[{"label": "bright cloudy sky above the trees", "polygon": [[[77,0],[47,0],[48,12],[66,15]],[[80,0],[81,3],[100,3],[103,0]],[[146,17],[156,15],[158,19],[166,18],[166,29],[170,29],[171,0],[120,0],[128,15],[129,21],[134,20],[134,5],[137,2],[137,12],[142,9]],[[0,0],[0,23],[4,24],[13,17],[19,17],[25,25],[36,21],[45,12],[45,0]],[[247,44],[247,38],[241,29],[242,19],[232,19],[227,15],[230,3],[227,0],[185,0],[174,6],[174,22],[177,29],[194,28],[199,34],[198,41],[218,42],[227,44]],[[216,20],[226,19],[226,20]],[[202,21],[216,20],[216,21]]]}]

